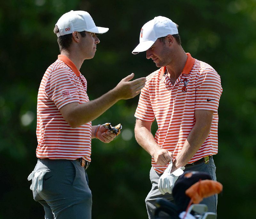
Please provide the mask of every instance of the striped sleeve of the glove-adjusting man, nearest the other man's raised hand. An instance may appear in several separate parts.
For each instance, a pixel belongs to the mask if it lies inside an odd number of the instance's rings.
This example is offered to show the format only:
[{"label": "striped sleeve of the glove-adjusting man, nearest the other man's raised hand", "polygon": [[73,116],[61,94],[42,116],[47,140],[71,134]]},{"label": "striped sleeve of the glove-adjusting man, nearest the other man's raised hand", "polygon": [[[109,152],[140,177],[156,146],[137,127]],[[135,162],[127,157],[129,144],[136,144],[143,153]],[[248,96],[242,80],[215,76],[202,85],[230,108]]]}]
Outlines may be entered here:
[{"label": "striped sleeve of the glove-adjusting man, nearest the other man's raised hand", "polygon": [[148,82],[140,91],[140,99],[134,116],[143,121],[153,122],[155,120],[149,97]]}]

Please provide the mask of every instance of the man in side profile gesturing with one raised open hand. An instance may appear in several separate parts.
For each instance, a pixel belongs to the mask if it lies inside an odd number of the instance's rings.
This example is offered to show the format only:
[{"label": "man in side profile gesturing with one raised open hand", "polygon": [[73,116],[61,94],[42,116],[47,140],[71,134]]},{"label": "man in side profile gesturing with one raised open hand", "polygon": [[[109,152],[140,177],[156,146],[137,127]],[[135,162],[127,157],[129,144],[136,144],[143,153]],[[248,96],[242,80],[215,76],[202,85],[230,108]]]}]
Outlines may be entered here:
[{"label": "man in side profile gesturing with one raised open hand", "polygon": [[[79,69],[85,59],[95,55],[100,43],[96,34],[107,31],[97,27],[84,11],[65,13],[54,28],[60,55],[46,70],[39,87],[38,161],[28,176],[34,199],[44,206],[47,219],[91,219],[92,193],[86,174],[91,162],[91,139],[109,143],[116,137],[102,125],[92,126],[91,121],[118,100],[135,97],[145,85],[146,78],[131,81],[132,73],[114,89],[89,100],[87,81]],[[99,80],[100,74],[95,75]]]}]

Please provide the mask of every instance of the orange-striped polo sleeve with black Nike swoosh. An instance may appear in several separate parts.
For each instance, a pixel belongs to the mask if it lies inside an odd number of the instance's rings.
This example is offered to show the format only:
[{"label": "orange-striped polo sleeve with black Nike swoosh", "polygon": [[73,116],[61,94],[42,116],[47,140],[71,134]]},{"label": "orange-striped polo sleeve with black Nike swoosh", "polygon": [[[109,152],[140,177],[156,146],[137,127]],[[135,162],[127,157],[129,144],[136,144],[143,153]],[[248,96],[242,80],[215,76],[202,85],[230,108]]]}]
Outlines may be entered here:
[{"label": "orange-striped polo sleeve with black Nike swoosh", "polygon": [[217,112],[221,93],[220,75],[214,69],[204,69],[196,82],[195,110]]}]

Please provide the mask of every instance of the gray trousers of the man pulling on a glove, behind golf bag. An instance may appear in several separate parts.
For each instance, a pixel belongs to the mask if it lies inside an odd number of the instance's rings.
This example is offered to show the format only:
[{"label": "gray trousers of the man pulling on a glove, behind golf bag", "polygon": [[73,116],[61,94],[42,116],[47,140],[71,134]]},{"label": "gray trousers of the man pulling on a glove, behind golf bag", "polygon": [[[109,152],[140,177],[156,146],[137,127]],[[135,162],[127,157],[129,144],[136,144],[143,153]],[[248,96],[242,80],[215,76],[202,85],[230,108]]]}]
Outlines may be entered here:
[{"label": "gray trousers of the man pulling on a glove, behind golf bag", "polygon": [[[210,161],[208,164],[205,164],[204,162],[202,162],[202,163],[196,164],[194,166],[186,167],[184,171],[206,172],[206,173],[210,174],[210,176],[212,177],[212,180],[216,181],[216,174],[215,174],[216,167],[215,167],[212,157],[210,157]],[[155,203],[156,199],[164,198],[164,199],[173,201],[172,194],[165,193],[164,195],[162,195],[161,192],[159,192],[158,181],[159,181],[160,176],[161,176],[161,174],[158,174],[154,170],[153,167],[150,169],[149,177],[151,180],[152,188],[151,188],[150,192],[148,193],[148,196],[145,199],[149,219],[155,218],[154,213],[156,210],[156,206],[154,205],[154,203]],[[203,199],[203,201],[200,204],[207,205],[209,212],[216,213],[217,200],[218,200],[218,196],[216,194],[216,195],[213,195],[213,196]]]}]

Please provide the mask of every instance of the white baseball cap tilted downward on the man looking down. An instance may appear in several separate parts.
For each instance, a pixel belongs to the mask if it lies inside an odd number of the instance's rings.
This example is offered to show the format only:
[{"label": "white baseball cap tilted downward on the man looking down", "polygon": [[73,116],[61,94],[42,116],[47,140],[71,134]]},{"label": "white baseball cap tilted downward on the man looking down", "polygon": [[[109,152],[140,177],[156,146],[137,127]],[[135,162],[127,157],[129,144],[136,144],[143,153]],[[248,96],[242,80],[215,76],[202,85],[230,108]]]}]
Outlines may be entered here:
[{"label": "white baseball cap tilted downward on the man looking down", "polygon": [[172,20],[158,16],[148,21],[140,30],[140,43],[132,51],[133,54],[148,50],[159,37],[178,34],[178,28]]}]

